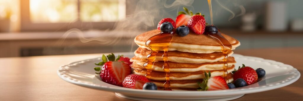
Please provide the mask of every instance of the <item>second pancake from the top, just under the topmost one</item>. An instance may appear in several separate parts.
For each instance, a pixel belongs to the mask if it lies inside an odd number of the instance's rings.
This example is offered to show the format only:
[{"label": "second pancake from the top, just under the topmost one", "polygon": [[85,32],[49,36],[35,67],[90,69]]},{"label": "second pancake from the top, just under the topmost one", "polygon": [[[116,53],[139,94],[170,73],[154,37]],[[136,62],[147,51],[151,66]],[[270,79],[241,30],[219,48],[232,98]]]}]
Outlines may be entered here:
[{"label": "second pancake from the top, just under the topmost one", "polygon": [[[142,59],[147,59],[147,55],[151,50],[138,48],[135,51],[135,56]],[[231,56],[234,52],[229,51],[228,56]],[[162,55],[163,51],[158,52],[156,55],[156,61],[163,61]],[[224,56],[222,52],[212,52],[212,53],[190,53],[190,52],[180,52],[180,51],[168,51],[168,61],[170,62],[180,62],[180,63],[205,63],[205,62],[216,62],[221,61]]]}]

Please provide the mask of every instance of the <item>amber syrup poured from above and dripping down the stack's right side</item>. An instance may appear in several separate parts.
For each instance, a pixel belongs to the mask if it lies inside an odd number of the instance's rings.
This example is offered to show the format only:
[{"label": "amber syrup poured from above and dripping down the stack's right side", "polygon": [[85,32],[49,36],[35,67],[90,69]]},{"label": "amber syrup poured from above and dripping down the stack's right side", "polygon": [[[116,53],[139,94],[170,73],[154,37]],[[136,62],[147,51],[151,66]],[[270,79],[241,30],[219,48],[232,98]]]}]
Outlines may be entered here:
[{"label": "amber syrup poured from above and dripping down the stack's right side", "polygon": [[[208,7],[209,7],[209,12],[210,12],[210,18],[211,18],[211,25],[213,25],[213,20],[212,20],[212,8],[211,8],[211,0],[207,0],[208,1]],[[210,36],[212,39],[214,39],[216,42],[218,42],[221,47],[222,47],[222,54],[224,56],[223,58],[223,77],[226,80],[227,79],[227,67],[228,67],[228,63],[227,63],[227,59],[228,59],[228,52],[232,49],[232,45],[231,43],[224,37],[221,35],[220,30],[218,30],[218,33],[206,33],[208,36]],[[228,80],[228,79],[227,79]],[[228,80],[229,82],[229,80]]]}]

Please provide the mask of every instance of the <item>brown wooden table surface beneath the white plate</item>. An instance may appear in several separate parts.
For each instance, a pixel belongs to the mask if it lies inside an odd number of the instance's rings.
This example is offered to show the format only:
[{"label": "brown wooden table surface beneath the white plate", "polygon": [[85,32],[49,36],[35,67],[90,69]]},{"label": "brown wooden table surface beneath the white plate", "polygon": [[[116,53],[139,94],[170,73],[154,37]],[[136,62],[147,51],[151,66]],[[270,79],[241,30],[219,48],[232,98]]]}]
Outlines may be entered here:
[{"label": "brown wooden table surface beneath the white plate", "polygon": [[[303,71],[303,48],[235,50],[235,53],[273,59]],[[65,82],[57,76],[61,65],[101,54],[0,58],[0,100],[129,100],[112,92],[89,89]],[[236,100],[303,100],[303,79],[279,89],[246,94]]]}]

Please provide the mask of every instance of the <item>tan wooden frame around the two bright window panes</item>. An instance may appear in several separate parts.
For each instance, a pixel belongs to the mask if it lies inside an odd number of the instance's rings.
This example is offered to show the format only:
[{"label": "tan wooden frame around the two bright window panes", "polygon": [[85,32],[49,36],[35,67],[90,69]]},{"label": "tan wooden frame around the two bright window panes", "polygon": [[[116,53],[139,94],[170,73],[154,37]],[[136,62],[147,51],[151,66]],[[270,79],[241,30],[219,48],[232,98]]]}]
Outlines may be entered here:
[{"label": "tan wooden frame around the two bright window panes", "polygon": [[[80,20],[80,0],[77,0],[78,19],[74,22],[59,22],[59,23],[32,23],[30,19],[30,3],[29,0],[20,0],[20,30],[28,31],[66,31],[68,29],[112,29],[116,22],[82,22]],[[121,4],[120,4],[121,3]],[[123,4],[124,3],[124,4]],[[124,7],[123,7],[124,5]],[[122,8],[122,9],[121,9]],[[124,8],[124,9],[123,9]],[[126,0],[119,0],[119,10],[125,10],[126,17],[127,3]],[[124,18],[125,18],[124,17]]]}]

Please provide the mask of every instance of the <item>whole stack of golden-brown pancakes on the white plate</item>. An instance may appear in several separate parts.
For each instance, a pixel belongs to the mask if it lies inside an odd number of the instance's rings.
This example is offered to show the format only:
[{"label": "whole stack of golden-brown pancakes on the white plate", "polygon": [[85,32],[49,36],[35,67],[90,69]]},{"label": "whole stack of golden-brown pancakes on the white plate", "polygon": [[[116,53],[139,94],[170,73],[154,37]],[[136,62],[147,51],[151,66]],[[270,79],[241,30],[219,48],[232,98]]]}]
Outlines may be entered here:
[{"label": "whole stack of golden-brown pancakes on the white plate", "polygon": [[[135,51],[135,56],[131,59],[132,73],[145,76],[147,70],[143,64],[147,62],[147,55],[151,53],[145,42],[154,35],[159,34],[158,30],[151,30],[135,37],[135,43],[139,48]],[[234,50],[240,42],[228,35],[222,34],[232,45]],[[196,90],[199,86],[197,82],[202,82],[204,72],[211,72],[211,76],[223,76],[226,71],[223,69],[224,56],[221,45],[208,35],[197,35],[190,32],[187,36],[181,37],[174,34],[168,47],[168,64],[170,66],[170,87],[171,89]],[[233,52],[228,52],[228,76],[226,81],[231,82],[232,74],[236,63]],[[158,87],[164,87],[166,73],[162,69],[164,65],[162,59],[163,51],[158,52],[151,72],[151,82]]]}]

